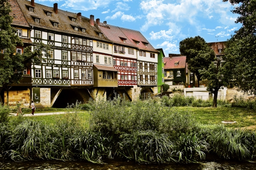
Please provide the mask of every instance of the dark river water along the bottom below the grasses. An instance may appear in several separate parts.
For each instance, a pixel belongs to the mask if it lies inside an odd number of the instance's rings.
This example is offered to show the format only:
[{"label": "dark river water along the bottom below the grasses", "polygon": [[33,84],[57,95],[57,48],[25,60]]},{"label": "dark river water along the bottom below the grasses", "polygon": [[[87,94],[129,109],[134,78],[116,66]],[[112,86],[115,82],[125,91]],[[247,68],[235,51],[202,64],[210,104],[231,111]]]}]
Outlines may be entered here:
[{"label": "dark river water along the bottom below the grasses", "polygon": [[0,159],[0,170],[256,170],[256,163],[241,161],[202,161],[193,164],[137,164],[108,160],[105,164],[86,161],[22,161]]}]

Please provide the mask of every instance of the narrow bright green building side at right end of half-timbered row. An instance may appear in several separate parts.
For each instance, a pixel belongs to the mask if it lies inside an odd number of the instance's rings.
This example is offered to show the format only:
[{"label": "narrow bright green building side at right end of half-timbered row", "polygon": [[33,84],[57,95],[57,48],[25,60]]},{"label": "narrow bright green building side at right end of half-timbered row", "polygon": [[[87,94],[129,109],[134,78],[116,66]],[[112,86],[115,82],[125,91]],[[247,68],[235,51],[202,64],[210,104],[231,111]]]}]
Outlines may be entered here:
[{"label": "narrow bright green building side at right end of half-timbered row", "polygon": [[160,53],[158,54],[158,62],[157,62],[157,93],[161,93],[162,85],[164,84],[164,53],[163,53],[163,48],[158,48],[157,49]]}]

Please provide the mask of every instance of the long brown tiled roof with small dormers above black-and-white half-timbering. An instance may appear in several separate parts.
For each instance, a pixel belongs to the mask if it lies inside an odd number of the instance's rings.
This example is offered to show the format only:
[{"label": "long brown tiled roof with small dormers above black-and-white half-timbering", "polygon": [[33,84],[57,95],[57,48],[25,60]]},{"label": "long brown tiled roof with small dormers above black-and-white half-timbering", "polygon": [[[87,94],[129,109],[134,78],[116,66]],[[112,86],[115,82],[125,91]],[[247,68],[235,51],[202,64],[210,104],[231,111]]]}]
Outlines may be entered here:
[{"label": "long brown tiled roof with small dormers above black-and-white half-timbering", "polygon": [[[101,32],[99,26],[96,24],[96,22],[94,22],[94,26],[91,26],[90,19],[87,17],[81,16],[81,22],[79,22],[77,19],[77,14],[72,12],[58,9],[58,14],[55,14],[53,7],[44,6],[38,3],[35,3],[34,12],[31,12],[27,8],[27,6],[31,6],[30,1],[18,0],[17,3],[19,4],[21,11],[23,12],[30,26],[111,42],[104,35],[99,37],[99,34],[97,33]],[[51,17],[47,16],[46,11],[51,12]],[[35,17],[40,18],[40,23],[35,23]],[[71,18],[75,18],[75,22],[73,22]],[[54,21],[58,23],[58,27],[53,26]],[[72,25],[78,26],[79,31],[75,31]],[[85,33],[82,32],[81,28],[86,29]]]}]

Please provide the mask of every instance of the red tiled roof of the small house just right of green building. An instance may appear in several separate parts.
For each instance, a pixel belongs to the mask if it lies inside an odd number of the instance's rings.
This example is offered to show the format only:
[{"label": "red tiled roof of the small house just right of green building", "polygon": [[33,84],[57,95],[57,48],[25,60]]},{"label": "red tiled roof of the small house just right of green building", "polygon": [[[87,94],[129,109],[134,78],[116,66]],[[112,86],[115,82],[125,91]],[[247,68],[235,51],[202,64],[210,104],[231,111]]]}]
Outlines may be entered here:
[{"label": "red tiled roof of the small house just right of green building", "polygon": [[[178,62],[178,65],[175,63]],[[186,56],[164,57],[164,69],[186,68]]]}]

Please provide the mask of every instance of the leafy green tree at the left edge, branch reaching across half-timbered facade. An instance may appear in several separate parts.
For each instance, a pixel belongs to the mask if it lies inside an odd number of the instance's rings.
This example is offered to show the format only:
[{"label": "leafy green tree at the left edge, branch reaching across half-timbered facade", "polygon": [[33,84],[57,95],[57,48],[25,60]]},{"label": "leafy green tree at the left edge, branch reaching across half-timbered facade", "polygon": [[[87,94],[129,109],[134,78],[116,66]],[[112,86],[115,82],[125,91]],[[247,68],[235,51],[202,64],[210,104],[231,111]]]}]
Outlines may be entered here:
[{"label": "leafy green tree at the left edge, branch reaching across half-timbered facade", "polygon": [[[11,6],[8,0],[0,0],[0,91],[11,83],[19,83],[22,78],[23,70],[26,64],[34,62],[41,63],[43,53],[49,56],[47,45],[38,44],[38,51],[31,51],[30,47],[24,50],[24,53],[16,53],[16,45],[23,45],[17,35],[17,30],[11,26],[12,17],[9,15]],[[0,96],[0,102],[2,98]]]}]

